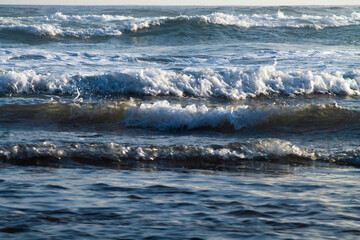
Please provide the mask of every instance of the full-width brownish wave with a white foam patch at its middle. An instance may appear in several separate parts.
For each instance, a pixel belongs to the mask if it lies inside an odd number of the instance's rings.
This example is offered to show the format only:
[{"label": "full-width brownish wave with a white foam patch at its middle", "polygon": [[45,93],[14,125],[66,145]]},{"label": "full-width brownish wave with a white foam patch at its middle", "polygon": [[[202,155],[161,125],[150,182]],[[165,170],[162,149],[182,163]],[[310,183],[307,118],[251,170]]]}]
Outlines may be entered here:
[{"label": "full-width brownish wave with a white foam patch at its middle", "polygon": [[[157,130],[292,129],[293,131],[336,129],[360,123],[360,112],[329,105],[185,105],[157,101],[119,100],[102,103],[49,102],[31,105],[3,105],[0,121],[23,120],[84,127],[110,124],[119,127]],[[10,120],[12,119],[12,120]]]}]

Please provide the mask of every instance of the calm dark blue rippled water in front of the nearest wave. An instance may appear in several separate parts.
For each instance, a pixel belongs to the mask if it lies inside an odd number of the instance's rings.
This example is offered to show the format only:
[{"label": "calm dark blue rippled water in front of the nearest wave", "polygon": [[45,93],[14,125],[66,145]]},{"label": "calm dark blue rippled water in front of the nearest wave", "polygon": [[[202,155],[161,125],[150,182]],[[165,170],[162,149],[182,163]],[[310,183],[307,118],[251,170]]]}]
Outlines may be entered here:
[{"label": "calm dark blue rippled water in front of the nearest wave", "polygon": [[[18,238],[359,236],[359,170],[0,169],[1,233]],[[14,234],[14,235],[12,235]]]}]

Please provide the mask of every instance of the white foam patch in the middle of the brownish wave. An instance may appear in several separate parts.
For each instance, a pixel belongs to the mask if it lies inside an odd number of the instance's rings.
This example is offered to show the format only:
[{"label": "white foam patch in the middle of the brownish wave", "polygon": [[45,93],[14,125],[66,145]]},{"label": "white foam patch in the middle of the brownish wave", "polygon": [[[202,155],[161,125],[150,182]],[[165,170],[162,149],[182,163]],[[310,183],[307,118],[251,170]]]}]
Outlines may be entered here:
[{"label": "white foam patch in the middle of the brownish wave", "polygon": [[272,106],[257,109],[241,105],[211,109],[206,105],[192,104],[183,107],[168,101],[158,101],[130,106],[124,112],[124,122],[126,126],[159,130],[224,127],[242,129],[266,122],[269,116],[280,112],[281,109]]}]

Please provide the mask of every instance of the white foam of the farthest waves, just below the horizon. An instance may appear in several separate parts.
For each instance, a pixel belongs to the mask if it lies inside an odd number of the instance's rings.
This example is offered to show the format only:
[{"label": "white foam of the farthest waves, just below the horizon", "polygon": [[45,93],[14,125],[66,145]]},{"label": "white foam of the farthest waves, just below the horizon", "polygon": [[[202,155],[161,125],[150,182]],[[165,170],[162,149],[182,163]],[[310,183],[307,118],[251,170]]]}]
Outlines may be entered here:
[{"label": "white foam of the farthest waves, just below the horizon", "polygon": [[[76,27],[76,24],[71,27],[69,23],[79,23],[83,27]],[[50,37],[119,36],[127,31],[136,32],[154,26],[176,26],[179,24],[195,24],[199,27],[205,24],[240,28],[286,27],[320,30],[327,27],[360,25],[360,13],[353,12],[349,16],[306,14],[290,16],[279,10],[277,14],[234,15],[215,12],[208,15],[136,18],[122,15],[65,15],[57,12],[51,16],[43,17],[2,17],[0,18],[0,31],[21,31],[27,34]]]}]

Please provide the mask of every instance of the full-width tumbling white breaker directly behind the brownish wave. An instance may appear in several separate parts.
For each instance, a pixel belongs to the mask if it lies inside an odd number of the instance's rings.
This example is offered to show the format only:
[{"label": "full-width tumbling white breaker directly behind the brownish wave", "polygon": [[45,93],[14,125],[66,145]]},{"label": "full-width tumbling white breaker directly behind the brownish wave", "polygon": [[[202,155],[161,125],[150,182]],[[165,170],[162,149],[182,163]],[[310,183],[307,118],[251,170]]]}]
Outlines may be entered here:
[{"label": "full-width tumbling white breaker directly behind the brownish wave", "polygon": [[275,65],[250,69],[172,71],[128,69],[99,75],[55,76],[33,70],[0,72],[0,94],[93,94],[244,99],[273,94],[360,95],[360,71],[285,72]]}]

